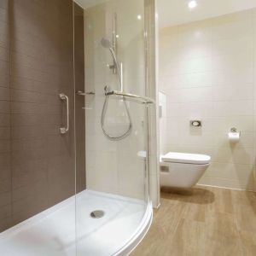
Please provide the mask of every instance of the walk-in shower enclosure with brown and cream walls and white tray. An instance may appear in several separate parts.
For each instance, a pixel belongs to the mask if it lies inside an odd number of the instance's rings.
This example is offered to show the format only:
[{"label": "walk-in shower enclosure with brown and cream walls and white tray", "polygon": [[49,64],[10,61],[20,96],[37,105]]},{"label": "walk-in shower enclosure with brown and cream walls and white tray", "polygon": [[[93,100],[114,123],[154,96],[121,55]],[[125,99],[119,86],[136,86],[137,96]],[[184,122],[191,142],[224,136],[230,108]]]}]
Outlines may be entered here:
[{"label": "walk-in shower enclosure with brown and cream walls and white tray", "polygon": [[1,255],[127,254],[148,230],[143,14],[0,1]]}]

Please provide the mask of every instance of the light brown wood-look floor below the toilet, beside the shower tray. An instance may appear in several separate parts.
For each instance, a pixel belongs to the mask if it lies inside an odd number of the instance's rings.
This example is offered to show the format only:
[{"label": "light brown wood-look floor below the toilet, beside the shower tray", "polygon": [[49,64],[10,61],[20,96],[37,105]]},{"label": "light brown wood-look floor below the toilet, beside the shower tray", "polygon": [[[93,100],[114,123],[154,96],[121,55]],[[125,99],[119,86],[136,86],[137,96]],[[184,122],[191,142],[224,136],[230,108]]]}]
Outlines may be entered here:
[{"label": "light brown wood-look floor below the toilet, beside the shower tray", "polygon": [[132,256],[256,255],[256,193],[196,187],[161,193],[153,224]]}]

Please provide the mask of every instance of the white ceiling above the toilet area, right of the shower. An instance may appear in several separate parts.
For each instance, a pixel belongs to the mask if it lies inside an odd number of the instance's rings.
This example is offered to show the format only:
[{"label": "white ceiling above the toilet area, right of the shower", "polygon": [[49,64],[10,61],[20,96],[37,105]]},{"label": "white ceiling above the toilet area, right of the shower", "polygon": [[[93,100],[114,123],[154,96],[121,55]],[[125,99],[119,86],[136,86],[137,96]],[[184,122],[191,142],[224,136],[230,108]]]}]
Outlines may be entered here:
[{"label": "white ceiling above the toilet area, right of the shower", "polygon": [[197,0],[197,7],[190,10],[188,2],[189,0],[157,0],[160,27],[204,20],[256,7],[256,0]]}]

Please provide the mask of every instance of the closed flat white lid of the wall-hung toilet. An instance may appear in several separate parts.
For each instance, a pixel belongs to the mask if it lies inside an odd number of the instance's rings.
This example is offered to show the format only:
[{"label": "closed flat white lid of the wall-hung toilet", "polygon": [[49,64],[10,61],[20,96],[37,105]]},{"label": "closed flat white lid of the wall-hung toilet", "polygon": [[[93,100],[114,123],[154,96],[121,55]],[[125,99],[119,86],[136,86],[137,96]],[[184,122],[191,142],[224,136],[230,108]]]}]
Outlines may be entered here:
[{"label": "closed flat white lid of the wall-hung toilet", "polygon": [[188,154],[169,152],[161,157],[164,162],[206,165],[210,163],[211,156],[207,154]]}]

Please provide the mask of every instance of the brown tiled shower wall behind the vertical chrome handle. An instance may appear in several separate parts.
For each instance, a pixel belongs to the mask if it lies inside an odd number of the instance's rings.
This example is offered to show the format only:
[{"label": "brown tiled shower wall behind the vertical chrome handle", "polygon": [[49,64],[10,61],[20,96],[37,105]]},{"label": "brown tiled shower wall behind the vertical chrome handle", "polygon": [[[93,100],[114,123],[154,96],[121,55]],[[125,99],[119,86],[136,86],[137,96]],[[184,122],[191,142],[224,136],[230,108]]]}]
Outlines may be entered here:
[{"label": "brown tiled shower wall behind the vertical chrome handle", "polygon": [[73,100],[72,1],[1,0],[0,231],[75,193]]}]

